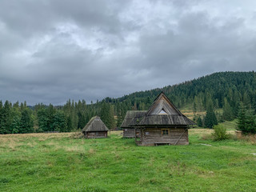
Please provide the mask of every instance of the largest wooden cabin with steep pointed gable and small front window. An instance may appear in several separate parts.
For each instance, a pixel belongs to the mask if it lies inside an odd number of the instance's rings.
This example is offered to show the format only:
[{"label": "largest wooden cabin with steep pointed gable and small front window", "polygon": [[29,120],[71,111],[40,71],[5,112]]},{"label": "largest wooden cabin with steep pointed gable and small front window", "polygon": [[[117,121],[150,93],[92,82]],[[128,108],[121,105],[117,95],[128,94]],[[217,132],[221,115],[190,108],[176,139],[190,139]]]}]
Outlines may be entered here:
[{"label": "largest wooden cabin with steep pointed gable and small front window", "polygon": [[161,93],[131,127],[139,132],[135,137],[138,146],[188,145],[188,129],[194,124]]}]

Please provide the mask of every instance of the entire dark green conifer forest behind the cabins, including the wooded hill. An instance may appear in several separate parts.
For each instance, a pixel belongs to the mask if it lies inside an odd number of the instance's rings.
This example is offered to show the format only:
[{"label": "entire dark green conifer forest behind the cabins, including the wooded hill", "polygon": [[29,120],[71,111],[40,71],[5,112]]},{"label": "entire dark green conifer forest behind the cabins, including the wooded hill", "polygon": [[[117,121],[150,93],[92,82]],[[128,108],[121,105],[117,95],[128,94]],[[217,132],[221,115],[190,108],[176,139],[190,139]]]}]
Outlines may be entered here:
[{"label": "entire dark green conifer forest behind the cabins, including the wooded hill", "polygon": [[[174,86],[89,104],[84,100],[68,100],[63,106],[42,103],[27,106],[26,102],[0,101],[0,134],[81,130],[94,115],[99,115],[107,127],[114,129],[121,125],[127,110],[148,110],[161,91],[180,110],[191,110],[194,114],[206,111],[204,116],[194,116],[198,126],[212,128],[218,122],[234,118],[240,119],[240,125],[255,126],[256,73],[219,72]],[[219,109],[221,114],[216,114],[214,111]],[[242,115],[253,122],[242,122],[245,119]]]}]

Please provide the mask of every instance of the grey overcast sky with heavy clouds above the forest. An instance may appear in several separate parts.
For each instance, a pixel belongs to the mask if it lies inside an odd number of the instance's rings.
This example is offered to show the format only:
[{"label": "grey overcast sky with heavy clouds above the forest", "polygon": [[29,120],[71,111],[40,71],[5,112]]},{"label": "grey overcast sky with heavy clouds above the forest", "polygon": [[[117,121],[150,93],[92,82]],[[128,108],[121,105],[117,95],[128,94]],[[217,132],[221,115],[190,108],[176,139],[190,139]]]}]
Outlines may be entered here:
[{"label": "grey overcast sky with heavy clouds above the forest", "polygon": [[0,100],[101,100],[256,68],[255,0],[1,0]]}]

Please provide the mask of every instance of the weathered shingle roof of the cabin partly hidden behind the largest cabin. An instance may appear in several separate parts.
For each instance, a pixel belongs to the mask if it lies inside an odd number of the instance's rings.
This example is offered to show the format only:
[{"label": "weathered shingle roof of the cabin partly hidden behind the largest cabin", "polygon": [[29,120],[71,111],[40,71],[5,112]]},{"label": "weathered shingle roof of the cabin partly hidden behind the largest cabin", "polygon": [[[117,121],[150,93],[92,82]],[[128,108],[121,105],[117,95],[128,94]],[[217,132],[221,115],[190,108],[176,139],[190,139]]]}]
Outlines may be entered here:
[{"label": "weathered shingle roof of the cabin partly hidden behind the largest cabin", "polygon": [[141,120],[146,114],[146,110],[128,110],[126,112],[126,117],[122,121],[122,128],[134,126]]}]

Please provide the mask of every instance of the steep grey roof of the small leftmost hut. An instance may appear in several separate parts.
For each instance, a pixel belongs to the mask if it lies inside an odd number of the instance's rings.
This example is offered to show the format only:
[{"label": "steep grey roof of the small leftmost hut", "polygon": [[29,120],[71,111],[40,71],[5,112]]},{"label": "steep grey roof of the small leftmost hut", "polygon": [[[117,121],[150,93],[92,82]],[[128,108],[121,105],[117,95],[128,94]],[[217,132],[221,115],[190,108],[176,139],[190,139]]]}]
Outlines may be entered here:
[{"label": "steep grey roof of the small leftmost hut", "polygon": [[82,129],[82,132],[94,132],[94,131],[108,131],[102,119],[98,116],[94,116]]}]

